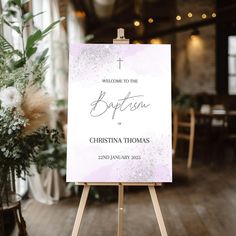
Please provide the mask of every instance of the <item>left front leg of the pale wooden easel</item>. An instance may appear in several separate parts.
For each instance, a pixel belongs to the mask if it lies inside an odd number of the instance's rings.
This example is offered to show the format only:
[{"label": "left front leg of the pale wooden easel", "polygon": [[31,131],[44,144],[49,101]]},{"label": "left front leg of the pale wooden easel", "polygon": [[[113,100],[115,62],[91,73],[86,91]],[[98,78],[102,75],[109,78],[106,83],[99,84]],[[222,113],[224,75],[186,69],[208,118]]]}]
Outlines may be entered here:
[{"label": "left front leg of the pale wooden easel", "polygon": [[72,236],[77,236],[79,233],[80,223],[81,223],[82,216],[84,213],[84,208],[87,202],[89,190],[90,190],[90,186],[85,185],[83,188],[81,199],[80,199],[79,209],[77,211],[77,215],[76,215],[76,219],[75,219],[75,223],[74,223],[74,227],[72,231]]}]

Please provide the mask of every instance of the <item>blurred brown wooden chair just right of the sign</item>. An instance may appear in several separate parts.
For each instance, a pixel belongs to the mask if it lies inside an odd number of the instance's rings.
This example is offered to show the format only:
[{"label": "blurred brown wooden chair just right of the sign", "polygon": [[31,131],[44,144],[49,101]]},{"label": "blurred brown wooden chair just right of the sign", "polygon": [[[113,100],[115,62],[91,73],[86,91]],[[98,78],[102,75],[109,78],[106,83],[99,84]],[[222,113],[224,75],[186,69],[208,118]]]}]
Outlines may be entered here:
[{"label": "blurred brown wooden chair just right of the sign", "polygon": [[173,149],[176,154],[178,140],[189,141],[187,167],[192,167],[195,135],[194,109],[173,109]]}]

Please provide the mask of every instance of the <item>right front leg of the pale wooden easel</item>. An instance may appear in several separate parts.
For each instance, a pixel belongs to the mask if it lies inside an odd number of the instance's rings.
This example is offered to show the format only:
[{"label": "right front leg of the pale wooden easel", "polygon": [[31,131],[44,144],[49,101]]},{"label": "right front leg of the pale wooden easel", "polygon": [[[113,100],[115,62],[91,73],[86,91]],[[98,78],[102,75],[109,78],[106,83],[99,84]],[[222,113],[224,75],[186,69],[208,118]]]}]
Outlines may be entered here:
[{"label": "right front leg of the pale wooden easel", "polygon": [[162,236],[168,236],[167,231],[166,231],[166,227],[165,227],[165,223],[163,220],[163,216],[161,213],[161,208],[157,199],[157,194],[156,194],[156,190],[154,186],[148,186],[150,195],[151,195],[151,199],[152,199],[152,203],[153,203],[153,207],[155,210],[155,214],[157,217],[157,222],[161,231],[161,235]]}]

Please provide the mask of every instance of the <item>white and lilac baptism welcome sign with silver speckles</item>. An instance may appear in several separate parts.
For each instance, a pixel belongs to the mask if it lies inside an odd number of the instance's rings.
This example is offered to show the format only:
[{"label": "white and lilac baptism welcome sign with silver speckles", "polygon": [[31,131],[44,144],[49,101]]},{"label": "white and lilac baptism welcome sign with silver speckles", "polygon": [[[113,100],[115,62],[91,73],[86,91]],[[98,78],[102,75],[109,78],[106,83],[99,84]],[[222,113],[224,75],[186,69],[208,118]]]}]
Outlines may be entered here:
[{"label": "white and lilac baptism welcome sign with silver speckles", "polygon": [[169,45],[70,47],[67,181],[170,182]]}]

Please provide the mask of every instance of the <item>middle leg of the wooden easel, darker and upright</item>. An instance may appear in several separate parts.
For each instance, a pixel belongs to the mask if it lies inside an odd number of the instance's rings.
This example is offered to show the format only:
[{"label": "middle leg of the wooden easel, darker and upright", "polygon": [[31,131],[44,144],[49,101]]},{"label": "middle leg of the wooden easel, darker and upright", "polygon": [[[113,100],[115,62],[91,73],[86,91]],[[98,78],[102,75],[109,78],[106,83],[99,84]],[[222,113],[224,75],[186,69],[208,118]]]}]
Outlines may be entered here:
[{"label": "middle leg of the wooden easel, darker and upright", "polygon": [[118,230],[117,235],[123,235],[124,226],[124,185],[119,184],[118,190]]}]

